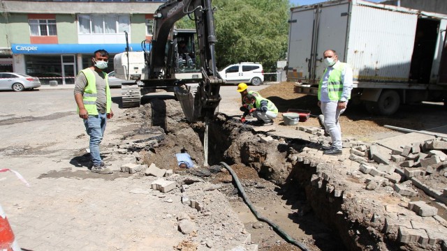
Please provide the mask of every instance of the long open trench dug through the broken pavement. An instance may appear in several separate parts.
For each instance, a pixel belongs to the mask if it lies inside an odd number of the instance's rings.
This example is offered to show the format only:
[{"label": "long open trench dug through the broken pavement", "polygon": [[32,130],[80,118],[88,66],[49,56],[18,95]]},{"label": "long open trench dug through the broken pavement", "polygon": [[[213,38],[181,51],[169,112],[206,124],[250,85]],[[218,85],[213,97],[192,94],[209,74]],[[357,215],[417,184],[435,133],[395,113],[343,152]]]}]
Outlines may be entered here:
[{"label": "long open trench dug through the broken pavement", "polygon": [[[149,119],[145,118],[142,127],[160,126],[166,137],[147,152],[147,163],[163,166],[170,162],[174,166],[177,162],[170,156],[186,151],[200,167],[205,160],[205,123],[187,123],[178,105],[169,100],[153,100],[151,104],[152,107],[145,105],[143,108],[142,113]],[[152,124],[149,125],[148,121],[152,121]],[[383,236],[380,230],[374,229],[367,222],[370,218],[363,216],[374,214],[372,208],[362,208],[356,204],[355,198],[337,195],[337,188],[334,189],[333,184],[318,176],[321,172],[318,172],[315,162],[296,158],[310,142],[280,137],[272,137],[272,140],[266,142],[263,139],[266,136],[264,132],[256,132],[251,126],[242,126],[226,114],[218,114],[210,122],[208,130],[207,162],[210,167],[225,162],[233,168],[244,189],[254,191],[249,192],[249,197],[255,206],[264,208],[261,214],[265,214],[263,216],[266,218],[272,217],[272,222],[276,222],[292,238],[303,241],[309,250],[381,250],[384,247],[399,250],[393,236]],[[223,182],[215,175],[211,174],[205,180]],[[270,185],[265,185],[264,181]],[[256,192],[260,184],[268,189]],[[220,190],[237,213],[249,211],[235,188],[233,181],[224,184]],[[352,218],[352,211],[360,211],[357,218]],[[378,222],[373,223],[379,225]],[[269,237],[270,241],[278,237],[272,235],[268,227],[261,230],[251,227],[256,224],[244,222],[247,231],[252,234],[252,242],[259,242],[259,250],[300,250],[284,239],[284,249],[261,245],[261,242],[268,242]]]}]

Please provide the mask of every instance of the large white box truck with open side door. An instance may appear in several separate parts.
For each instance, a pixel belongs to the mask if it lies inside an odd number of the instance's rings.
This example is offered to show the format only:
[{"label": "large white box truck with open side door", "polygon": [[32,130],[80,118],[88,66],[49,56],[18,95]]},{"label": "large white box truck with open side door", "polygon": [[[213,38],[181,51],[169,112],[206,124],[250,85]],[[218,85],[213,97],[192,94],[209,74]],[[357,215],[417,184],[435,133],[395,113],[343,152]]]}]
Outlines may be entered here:
[{"label": "large white box truck with open side door", "polygon": [[352,102],[374,114],[401,104],[447,100],[447,15],[360,0],[291,8],[287,81],[316,95],[335,50],[353,68]]}]

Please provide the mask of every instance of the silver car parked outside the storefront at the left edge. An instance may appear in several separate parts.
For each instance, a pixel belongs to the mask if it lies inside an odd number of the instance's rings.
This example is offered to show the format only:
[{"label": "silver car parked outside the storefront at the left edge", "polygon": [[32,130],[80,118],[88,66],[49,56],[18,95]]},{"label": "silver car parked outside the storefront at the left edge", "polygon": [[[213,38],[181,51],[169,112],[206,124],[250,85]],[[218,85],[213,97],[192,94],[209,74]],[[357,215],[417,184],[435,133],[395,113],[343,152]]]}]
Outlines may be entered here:
[{"label": "silver car parked outside the storefront at the left edge", "polygon": [[38,77],[22,73],[0,73],[0,90],[23,91],[41,87]]}]

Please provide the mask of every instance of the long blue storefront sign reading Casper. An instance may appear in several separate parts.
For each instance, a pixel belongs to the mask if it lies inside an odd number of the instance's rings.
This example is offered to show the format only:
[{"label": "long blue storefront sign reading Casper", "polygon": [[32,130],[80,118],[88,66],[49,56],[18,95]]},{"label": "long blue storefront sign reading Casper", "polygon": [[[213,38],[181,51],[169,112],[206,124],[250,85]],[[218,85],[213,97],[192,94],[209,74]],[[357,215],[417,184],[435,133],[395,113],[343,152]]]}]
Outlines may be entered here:
[{"label": "long blue storefront sign reading Casper", "polygon": [[[106,50],[109,53],[126,52],[126,44],[13,44],[11,51],[13,54],[91,54],[96,50]],[[150,50],[150,45],[146,45],[146,50]],[[141,44],[129,44],[129,51],[142,51]]]}]

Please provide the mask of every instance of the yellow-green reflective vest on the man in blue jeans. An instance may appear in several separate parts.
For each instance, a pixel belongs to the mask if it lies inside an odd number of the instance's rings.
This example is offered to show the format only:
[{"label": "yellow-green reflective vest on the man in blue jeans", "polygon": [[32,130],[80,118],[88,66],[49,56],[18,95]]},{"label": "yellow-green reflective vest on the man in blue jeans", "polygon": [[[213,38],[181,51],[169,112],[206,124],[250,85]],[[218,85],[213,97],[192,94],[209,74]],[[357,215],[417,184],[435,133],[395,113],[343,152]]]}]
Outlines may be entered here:
[{"label": "yellow-green reflective vest on the man in blue jeans", "polygon": [[[97,96],[97,90],[96,90],[96,77],[90,68],[86,68],[84,70],[81,70],[82,73],[84,73],[85,77],[87,78],[87,86],[85,86],[84,95],[82,98],[82,102],[84,103],[85,109],[87,109],[87,112],[90,115],[98,115],[98,109],[96,108],[96,96]],[[112,97],[110,96],[110,88],[108,83],[108,75],[107,73],[104,73],[104,79],[105,79],[105,100],[106,100],[106,111],[107,113],[110,113],[110,108],[112,107]],[[78,111],[79,112],[79,111]]]}]

